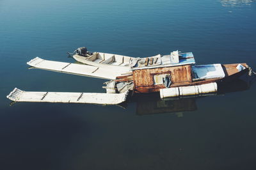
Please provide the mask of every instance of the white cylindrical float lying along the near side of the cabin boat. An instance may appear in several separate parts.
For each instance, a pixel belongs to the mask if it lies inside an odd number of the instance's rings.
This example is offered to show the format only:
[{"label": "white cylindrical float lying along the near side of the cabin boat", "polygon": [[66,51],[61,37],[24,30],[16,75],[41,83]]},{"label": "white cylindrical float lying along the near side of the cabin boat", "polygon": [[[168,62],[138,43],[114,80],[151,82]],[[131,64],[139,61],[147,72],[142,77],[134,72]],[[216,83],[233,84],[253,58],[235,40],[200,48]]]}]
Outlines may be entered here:
[{"label": "white cylindrical float lying along the near side of the cabin boat", "polygon": [[204,93],[214,93],[217,92],[218,87],[216,82],[211,82],[208,84],[202,84],[198,86],[184,86],[179,88],[166,88],[160,89],[160,97],[179,97],[188,95],[199,95]]}]

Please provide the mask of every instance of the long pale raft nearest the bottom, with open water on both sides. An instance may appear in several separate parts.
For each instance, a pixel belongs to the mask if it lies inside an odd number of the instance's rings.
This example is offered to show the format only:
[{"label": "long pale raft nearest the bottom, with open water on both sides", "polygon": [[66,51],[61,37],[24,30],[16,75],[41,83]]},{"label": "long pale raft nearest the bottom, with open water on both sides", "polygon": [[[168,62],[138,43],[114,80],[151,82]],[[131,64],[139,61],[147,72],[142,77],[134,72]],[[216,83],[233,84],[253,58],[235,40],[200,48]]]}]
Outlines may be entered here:
[{"label": "long pale raft nearest the bottom, with open water on both sides", "polygon": [[129,91],[125,91],[125,93],[43,92],[22,91],[15,88],[7,96],[7,98],[14,102],[51,102],[115,105],[125,102],[128,93]]}]

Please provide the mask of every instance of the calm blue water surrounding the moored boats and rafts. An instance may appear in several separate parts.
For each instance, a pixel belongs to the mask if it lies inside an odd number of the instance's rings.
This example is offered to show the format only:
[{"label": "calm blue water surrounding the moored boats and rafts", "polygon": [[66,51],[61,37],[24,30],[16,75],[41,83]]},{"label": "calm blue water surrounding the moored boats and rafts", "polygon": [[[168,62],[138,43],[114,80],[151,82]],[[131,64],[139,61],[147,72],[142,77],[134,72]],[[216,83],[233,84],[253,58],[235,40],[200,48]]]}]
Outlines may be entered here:
[{"label": "calm blue water surrounding the moored boats and rafts", "polygon": [[256,169],[255,84],[158,110],[152,96],[126,109],[6,98],[15,87],[104,92],[104,80],[26,65],[74,62],[66,52],[82,46],[132,57],[178,49],[197,64],[256,69],[255,27],[255,0],[1,0],[0,169]]}]

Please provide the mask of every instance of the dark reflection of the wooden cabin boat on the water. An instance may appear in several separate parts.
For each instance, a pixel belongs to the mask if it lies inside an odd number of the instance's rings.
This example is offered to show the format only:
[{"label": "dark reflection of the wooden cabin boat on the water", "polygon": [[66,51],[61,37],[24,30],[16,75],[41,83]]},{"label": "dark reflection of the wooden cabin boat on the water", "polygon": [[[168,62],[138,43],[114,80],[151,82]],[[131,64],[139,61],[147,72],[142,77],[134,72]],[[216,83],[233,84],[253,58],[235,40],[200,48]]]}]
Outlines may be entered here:
[{"label": "dark reflection of the wooden cabin boat on the water", "polygon": [[182,112],[196,111],[196,99],[207,97],[209,95],[223,95],[235,91],[244,91],[250,88],[252,79],[245,77],[242,79],[234,79],[232,82],[223,82],[218,84],[218,93],[207,94],[204,96],[190,96],[182,98],[164,98],[159,97],[159,93],[149,93],[147,95],[137,95],[132,97],[130,102],[136,102],[136,114],[161,114],[174,113],[178,117],[182,116]]}]

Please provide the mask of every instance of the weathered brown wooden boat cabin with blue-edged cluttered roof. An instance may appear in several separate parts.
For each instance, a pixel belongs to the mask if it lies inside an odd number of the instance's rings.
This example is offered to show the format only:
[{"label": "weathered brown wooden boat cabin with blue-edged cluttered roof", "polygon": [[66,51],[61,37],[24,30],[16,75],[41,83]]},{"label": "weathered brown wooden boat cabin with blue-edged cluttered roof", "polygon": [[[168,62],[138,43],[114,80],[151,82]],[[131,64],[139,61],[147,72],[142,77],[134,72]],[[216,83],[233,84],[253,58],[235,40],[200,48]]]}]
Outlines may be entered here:
[{"label": "weathered brown wooden boat cabin with blue-edged cluttered roof", "polygon": [[195,59],[192,52],[179,53],[174,51],[170,55],[162,56],[160,65],[152,65],[156,59],[156,56],[146,58],[143,61],[145,65],[137,64],[132,68],[136,92],[156,92],[162,88],[170,88],[175,84],[189,84],[193,81],[191,65],[195,64]]}]

